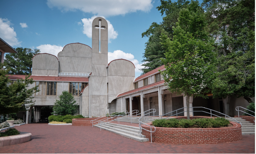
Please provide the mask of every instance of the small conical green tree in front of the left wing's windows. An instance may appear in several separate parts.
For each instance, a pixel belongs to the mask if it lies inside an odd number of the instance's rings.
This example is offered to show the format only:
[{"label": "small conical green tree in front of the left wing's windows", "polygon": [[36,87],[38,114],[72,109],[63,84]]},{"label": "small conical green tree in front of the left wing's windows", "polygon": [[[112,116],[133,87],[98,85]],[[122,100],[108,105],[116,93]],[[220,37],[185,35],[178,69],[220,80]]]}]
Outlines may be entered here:
[{"label": "small conical green tree in front of the left wing's windows", "polygon": [[76,101],[72,94],[68,91],[62,91],[60,99],[56,100],[53,106],[53,113],[57,115],[74,115],[78,105],[75,105]]}]

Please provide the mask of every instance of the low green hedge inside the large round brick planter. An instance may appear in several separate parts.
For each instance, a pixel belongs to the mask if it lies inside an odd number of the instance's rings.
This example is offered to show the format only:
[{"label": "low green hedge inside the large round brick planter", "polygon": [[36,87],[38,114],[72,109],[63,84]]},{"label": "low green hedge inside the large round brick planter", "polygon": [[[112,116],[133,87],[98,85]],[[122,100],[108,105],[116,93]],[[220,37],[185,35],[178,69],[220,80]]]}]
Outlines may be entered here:
[{"label": "low green hedge inside the large round brick planter", "polygon": [[155,119],[152,125],[155,127],[169,128],[218,128],[228,126],[229,120],[225,118],[198,118],[198,119]]}]

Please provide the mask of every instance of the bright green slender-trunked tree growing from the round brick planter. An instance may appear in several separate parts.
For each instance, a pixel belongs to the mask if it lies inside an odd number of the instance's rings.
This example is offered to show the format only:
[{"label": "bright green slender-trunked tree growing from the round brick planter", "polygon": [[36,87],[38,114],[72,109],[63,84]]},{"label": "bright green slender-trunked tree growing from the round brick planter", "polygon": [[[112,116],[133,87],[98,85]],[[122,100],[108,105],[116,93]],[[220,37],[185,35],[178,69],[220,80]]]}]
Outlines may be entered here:
[{"label": "bright green slender-trunked tree growing from the round brick planter", "polygon": [[173,40],[163,34],[162,44],[168,49],[162,59],[166,70],[163,78],[171,92],[187,96],[187,119],[189,119],[189,96],[206,98],[216,69],[214,41],[206,32],[207,22],[198,1],[191,1],[180,11],[173,27]]}]

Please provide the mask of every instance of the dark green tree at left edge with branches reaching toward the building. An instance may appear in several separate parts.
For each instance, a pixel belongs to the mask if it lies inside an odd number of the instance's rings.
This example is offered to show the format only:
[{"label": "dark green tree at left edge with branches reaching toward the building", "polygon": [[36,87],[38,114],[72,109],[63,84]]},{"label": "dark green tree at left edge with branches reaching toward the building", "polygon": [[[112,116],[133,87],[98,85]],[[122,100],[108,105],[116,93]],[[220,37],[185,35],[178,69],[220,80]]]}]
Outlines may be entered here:
[{"label": "dark green tree at left edge with branches reaching toward the building", "polygon": [[[23,80],[17,80],[12,83],[8,79],[8,71],[0,67],[0,114],[16,113],[22,107],[33,105],[33,96],[38,92],[37,87],[28,89],[29,84],[33,84],[33,79],[28,79],[30,75]],[[12,84],[11,84],[12,83]]]}]

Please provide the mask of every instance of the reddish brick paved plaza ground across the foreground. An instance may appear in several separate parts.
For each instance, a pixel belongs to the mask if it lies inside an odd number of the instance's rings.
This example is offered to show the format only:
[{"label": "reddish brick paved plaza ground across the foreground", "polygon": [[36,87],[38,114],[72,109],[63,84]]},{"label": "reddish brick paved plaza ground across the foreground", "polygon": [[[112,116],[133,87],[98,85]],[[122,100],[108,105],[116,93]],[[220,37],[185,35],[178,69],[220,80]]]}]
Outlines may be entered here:
[{"label": "reddish brick paved plaza ground across the foreground", "polygon": [[210,145],[137,142],[90,126],[26,124],[19,131],[32,140],[0,147],[0,153],[255,153],[255,135],[240,141]]}]

